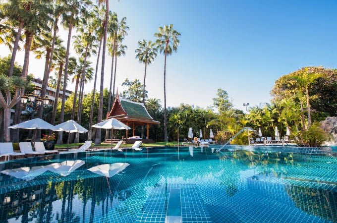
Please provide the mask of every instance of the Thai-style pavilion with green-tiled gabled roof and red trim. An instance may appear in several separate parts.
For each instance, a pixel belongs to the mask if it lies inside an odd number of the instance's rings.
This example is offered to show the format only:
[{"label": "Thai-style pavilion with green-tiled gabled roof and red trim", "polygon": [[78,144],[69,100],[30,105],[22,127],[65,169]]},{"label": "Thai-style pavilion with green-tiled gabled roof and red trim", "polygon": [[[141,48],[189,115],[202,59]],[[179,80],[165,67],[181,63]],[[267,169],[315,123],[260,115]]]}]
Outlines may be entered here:
[{"label": "Thai-style pavilion with green-tiled gabled roof and red trim", "polygon": [[[132,102],[125,99],[119,99],[118,91],[114,99],[112,109],[107,114],[107,119],[115,118],[132,128],[132,137],[128,137],[128,130],[126,130],[126,143],[133,143],[137,140],[135,136],[135,128],[137,126],[147,126],[147,137],[141,139],[143,142],[151,143],[153,139],[149,139],[150,125],[160,124],[159,121],[153,120],[149,112],[146,110],[144,103]],[[139,139],[138,139],[139,140]]]}]

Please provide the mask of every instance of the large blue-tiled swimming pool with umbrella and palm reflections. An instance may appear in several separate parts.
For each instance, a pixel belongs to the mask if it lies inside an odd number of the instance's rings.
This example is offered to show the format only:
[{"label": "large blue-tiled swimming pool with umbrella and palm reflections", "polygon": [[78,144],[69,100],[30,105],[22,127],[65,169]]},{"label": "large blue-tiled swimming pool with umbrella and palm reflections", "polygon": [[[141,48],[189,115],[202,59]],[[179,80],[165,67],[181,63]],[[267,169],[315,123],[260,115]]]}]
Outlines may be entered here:
[{"label": "large blue-tiled swimming pool with umbrella and palm reflections", "polygon": [[337,222],[336,153],[158,147],[23,159],[0,171],[1,222],[164,223],[172,189],[182,222]]}]

